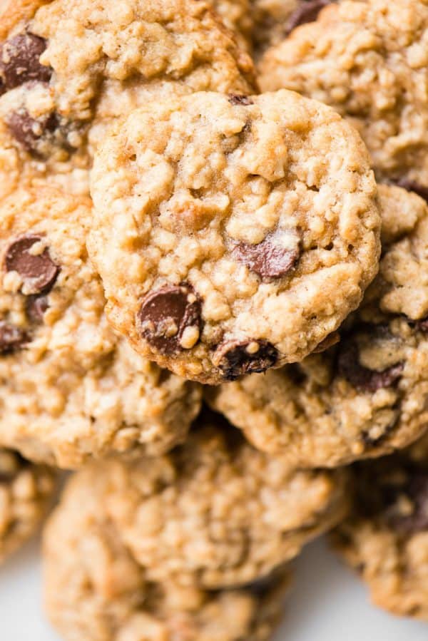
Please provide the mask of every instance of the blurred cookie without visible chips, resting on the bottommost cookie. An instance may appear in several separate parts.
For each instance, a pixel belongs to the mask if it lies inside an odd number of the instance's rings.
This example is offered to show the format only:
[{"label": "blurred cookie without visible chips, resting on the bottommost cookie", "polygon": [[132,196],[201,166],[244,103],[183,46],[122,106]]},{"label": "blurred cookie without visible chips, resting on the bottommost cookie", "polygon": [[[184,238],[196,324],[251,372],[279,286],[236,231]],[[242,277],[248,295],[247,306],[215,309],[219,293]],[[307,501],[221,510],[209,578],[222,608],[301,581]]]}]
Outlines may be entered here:
[{"label": "blurred cookie without visible chips, resting on the bottommost cookie", "polygon": [[200,417],[158,458],[100,461],[87,473],[148,580],[245,585],[294,558],[346,508],[342,471],[293,471],[219,415]]}]

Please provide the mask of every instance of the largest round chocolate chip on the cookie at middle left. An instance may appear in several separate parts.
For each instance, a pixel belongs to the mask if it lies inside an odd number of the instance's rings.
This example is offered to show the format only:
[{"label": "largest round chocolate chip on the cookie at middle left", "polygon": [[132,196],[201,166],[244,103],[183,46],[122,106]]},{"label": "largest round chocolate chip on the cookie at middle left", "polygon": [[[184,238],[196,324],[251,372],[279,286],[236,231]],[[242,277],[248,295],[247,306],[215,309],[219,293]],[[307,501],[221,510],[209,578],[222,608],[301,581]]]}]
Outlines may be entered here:
[{"label": "largest round chocolate chip on the cookie at middle left", "polygon": [[40,254],[31,254],[31,247],[41,240],[41,236],[34,234],[21,236],[6,251],[6,270],[19,273],[25,285],[25,294],[47,292],[59,274],[59,267],[51,260],[47,247]]}]

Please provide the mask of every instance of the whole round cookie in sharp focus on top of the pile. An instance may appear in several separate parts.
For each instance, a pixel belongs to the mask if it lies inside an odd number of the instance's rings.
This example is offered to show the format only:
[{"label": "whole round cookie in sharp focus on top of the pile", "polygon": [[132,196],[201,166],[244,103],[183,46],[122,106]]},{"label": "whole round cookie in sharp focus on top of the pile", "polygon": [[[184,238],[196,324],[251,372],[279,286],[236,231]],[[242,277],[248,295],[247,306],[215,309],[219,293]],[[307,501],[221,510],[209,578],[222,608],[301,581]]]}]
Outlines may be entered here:
[{"label": "whole round cookie in sharp focus on top of the pile", "polygon": [[377,272],[364,145],[288,91],[148,103],[103,141],[92,194],[109,319],[189,379],[302,359]]}]

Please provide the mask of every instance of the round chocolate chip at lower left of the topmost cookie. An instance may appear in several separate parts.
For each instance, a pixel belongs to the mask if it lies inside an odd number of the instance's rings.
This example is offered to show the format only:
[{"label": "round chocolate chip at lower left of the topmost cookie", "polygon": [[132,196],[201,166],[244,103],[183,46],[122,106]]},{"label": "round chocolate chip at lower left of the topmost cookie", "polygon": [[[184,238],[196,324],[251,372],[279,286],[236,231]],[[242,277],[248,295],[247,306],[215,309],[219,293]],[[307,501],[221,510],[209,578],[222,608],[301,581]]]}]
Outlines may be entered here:
[{"label": "round chocolate chip at lower left of the topmost cookie", "polygon": [[138,322],[141,335],[161,354],[190,349],[202,329],[200,298],[188,283],[166,285],[144,299]]}]

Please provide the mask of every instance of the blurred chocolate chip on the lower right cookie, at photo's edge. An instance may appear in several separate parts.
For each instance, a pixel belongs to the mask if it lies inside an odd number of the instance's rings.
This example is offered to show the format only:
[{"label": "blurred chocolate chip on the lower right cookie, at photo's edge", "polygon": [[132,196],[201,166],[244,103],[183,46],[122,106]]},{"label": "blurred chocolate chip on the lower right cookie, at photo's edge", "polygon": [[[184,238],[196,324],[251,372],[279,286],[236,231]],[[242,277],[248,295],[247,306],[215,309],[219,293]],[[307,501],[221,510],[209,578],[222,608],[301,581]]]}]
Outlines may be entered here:
[{"label": "blurred chocolate chip on the lower right cookie, at photo's edge", "polygon": [[[395,501],[384,512],[384,518],[390,527],[405,535],[428,530],[428,473],[412,473],[403,487],[393,488]],[[400,510],[400,496],[407,499],[411,509],[403,513]]]}]

